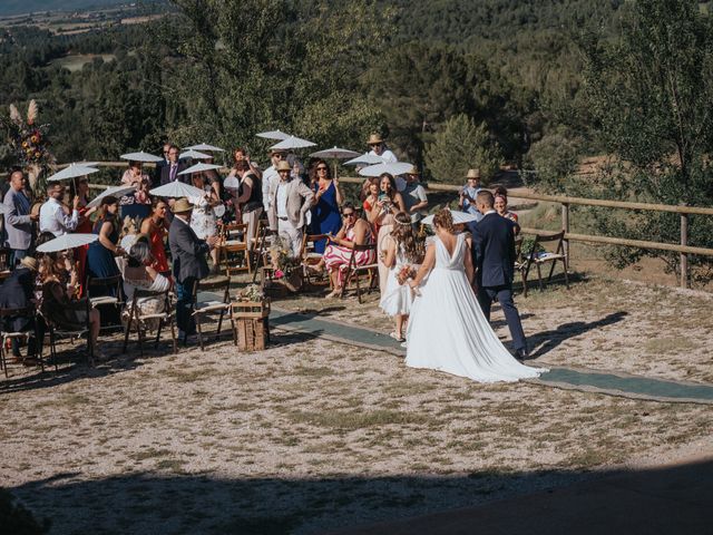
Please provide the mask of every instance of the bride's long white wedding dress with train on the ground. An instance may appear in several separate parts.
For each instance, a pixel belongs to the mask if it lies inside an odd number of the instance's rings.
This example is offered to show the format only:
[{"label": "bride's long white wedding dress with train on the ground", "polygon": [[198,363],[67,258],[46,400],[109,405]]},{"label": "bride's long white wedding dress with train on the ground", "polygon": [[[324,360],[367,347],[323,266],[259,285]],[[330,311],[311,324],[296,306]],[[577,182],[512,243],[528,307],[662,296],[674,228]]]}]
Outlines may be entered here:
[{"label": "bride's long white wedding dress with train on the ground", "polygon": [[519,363],[486,320],[463,268],[465,234],[458,235],[452,255],[438,237],[432,246],[436,265],[411,308],[407,366],[479,382],[517,381],[548,371]]}]

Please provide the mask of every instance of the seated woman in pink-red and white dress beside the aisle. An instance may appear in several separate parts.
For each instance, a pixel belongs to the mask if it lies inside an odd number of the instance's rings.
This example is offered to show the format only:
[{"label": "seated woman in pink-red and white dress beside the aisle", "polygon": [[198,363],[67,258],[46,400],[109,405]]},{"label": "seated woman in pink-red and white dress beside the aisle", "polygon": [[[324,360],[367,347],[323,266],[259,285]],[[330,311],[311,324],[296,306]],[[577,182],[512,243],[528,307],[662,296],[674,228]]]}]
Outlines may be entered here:
[{"label": "seated woman in pink-red and white dress beside the aisle", "polygon": [[[354,245],[371,244],[374,241],[371,225],[356,217],[356,211],[351,203],[344,203],[342,207],[342,216],[344,224],[335,236],[329,239],[330,244],[324,250],[324,255],[319,264],[311,266],[311,270],[322,271],[324,266],[330,270],[333,291],[326,298],[335,298],[342,292],[344,276],[349,269],[349,261],[352,256]],[[356,253],[356,265],[367,265],[373,263],[375,259],[374,251],[359,251]]]}]

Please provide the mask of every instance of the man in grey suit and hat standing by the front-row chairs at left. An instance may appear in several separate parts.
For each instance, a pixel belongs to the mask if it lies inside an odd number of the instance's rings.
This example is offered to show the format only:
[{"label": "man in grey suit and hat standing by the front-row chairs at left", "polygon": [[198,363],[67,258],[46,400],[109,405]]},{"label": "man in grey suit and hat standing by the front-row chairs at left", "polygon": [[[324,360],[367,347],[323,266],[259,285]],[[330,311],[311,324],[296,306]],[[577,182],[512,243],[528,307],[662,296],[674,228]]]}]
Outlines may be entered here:
[{"label": "man in grey suit and hat standing by the front-row chairs at left", "polygon": [[168,228],[168,246],[174,257],[176,281],[176,323],[184,340],[195,334],[196,323],[191,314],[193,288],[201,279],[208,276],[205,255],[214,249],[217,236],[201,240],[191,227],[193,205],[185,198],[174,204],[174,221]]}]

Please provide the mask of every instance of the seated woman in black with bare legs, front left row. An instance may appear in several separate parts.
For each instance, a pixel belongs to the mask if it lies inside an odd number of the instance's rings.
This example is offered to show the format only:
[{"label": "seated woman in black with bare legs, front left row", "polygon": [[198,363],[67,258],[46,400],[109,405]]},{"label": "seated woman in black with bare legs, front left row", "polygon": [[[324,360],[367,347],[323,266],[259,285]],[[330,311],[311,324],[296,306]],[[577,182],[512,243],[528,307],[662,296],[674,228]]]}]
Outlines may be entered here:
[{"label": "seated woman in black with bare legs, front left row", "polygon": [[106,360],[106,356],[97,349],[99,311],[90,309],[87,318],[86,304],[75,299],[76,290],[67,288],[62,282],[62,273],[49,255],[42,257],[39,272],[42,282],[42,315],[58,328],[67,330],[85,329],[88,320],[95,356],[97,360]]}]

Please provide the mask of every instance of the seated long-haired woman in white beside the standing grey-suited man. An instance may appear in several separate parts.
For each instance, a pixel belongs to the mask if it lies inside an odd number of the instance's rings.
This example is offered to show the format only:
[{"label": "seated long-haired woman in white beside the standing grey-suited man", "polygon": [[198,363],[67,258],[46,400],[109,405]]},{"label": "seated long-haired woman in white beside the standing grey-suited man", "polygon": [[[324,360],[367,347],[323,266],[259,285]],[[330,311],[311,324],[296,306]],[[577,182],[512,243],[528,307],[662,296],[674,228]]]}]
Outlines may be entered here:
[{"label": "seated long-haired woman in white beside the standing grey-suited man", "polygon": [[[149,290],[152,292],[165,292],[170,288],[170,280],[162,275],[153,268],[154,256],[152,247],[145,241],[139,239],[129,250],[129,257],[124,269],[124,293],[126,293],[126,302],[128,303],[124,311],[123,319],[126,322],[131,313],[134,303],[134,292],[139,290]],[[158,296],[140,298],[136,302],[141,314],[157,314],[164,312],[165,300]],[[146,320],[140,325],[141,330],[155,331],[158,329],[158,319],[153,318]]]}]

